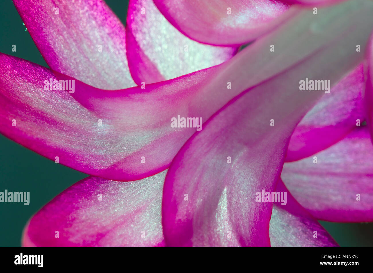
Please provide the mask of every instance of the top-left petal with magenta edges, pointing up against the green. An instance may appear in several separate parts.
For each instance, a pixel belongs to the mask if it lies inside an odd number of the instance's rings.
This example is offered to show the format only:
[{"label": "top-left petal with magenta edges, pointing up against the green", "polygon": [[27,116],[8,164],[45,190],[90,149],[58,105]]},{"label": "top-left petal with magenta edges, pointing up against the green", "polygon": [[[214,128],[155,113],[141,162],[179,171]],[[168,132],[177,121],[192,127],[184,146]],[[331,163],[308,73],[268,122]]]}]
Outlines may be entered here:
[{"label": "top-left petal with magenta edges, pointing up against the green", "polygon": [[135,85],[127,64],[125,28],[104,1],[13,2],[51,69],[97,88]]}]

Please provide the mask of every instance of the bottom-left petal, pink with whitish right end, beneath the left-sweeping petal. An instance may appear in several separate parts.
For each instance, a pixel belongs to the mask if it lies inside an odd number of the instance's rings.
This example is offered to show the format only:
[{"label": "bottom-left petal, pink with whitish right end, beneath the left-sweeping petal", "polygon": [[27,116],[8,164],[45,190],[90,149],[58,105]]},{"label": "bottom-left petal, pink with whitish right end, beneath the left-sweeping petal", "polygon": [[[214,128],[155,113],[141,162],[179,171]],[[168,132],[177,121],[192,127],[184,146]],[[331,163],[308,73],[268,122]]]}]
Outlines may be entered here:
[{"label": "bottom-left petal, pink with whitish right end, beneath the left-sweeping petal", "polygon": [[161,204],[166,172],[134,182],[88,177],[75,183],[29,220],[23,246],[164,246]]}]

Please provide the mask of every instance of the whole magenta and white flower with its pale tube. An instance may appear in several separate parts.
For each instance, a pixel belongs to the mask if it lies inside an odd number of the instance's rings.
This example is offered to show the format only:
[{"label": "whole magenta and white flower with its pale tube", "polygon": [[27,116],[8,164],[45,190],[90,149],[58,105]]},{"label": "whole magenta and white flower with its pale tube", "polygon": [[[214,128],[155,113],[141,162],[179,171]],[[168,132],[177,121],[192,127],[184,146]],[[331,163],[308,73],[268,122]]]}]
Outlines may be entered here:
[{"label": "whole magenta and white flower with its pale tube", "polygon": [[[373,149],[357,127],[371,117],[371,1],[316,16],[131,0],[126,29],[99,0],[14,2],[51,69],[0,54],[0,132],[92,175],[30,219],[24,246],[330,247],[317,219],[372,221]],[[333,88],[301,91],[304,79]],[[177,116],[202,130],[170,126]],[[261,196],[275,191],[282,204]]]}]

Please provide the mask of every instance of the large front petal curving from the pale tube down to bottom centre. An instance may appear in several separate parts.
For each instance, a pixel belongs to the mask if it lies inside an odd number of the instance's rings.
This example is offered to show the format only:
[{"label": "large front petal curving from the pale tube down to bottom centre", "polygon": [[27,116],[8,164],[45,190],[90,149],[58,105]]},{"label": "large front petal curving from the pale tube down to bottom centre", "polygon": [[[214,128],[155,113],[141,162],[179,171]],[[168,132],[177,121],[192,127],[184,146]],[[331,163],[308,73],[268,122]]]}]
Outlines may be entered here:
[{"label": "large front petal curving from the pale tube down to bottom centre", "polygon": [[[360,11],[344,22],[355,27],[366,12]],[[323,28],[325,36],[336,35],[332,29],[327,33]],[[256,193],[274,191],[292,131],[323,94],[300,91],[294,79],[307,75],[335,83],[358,64],[355,52],[348,51],[355,34],[333,36],[333,43],[243,92],[186,142],[164,184],[162,223],[168,246],[269,246],[272,203],[256,202]]]}]

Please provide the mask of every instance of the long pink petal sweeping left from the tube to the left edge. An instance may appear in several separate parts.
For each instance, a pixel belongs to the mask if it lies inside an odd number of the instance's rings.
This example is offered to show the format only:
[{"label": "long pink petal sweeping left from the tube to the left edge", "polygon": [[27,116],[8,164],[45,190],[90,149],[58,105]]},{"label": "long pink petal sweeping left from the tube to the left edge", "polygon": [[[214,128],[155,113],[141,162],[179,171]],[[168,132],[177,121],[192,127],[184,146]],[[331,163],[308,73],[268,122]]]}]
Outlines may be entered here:
[{"label": "long pink petal sweeping left from the tube to the left edge", "polygon": [[[172,128],[171,118],[191,114],[206,121],[247,81],[241,77],[241,85],[227,93],[227,75],[213,78],[223,67],[212,67],[146,89],[108,92],[76,80],[70,94],[43,85],[73,78],[6,54],[0,60],[0,102],[7,105],[0,111],[0,132],[53,161],[59,157],[60,164],[116,181],[166,169],[196,131]],[[219,96],[216,86],[223,86]]]}]

